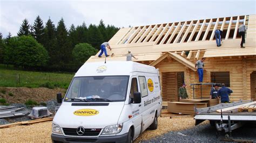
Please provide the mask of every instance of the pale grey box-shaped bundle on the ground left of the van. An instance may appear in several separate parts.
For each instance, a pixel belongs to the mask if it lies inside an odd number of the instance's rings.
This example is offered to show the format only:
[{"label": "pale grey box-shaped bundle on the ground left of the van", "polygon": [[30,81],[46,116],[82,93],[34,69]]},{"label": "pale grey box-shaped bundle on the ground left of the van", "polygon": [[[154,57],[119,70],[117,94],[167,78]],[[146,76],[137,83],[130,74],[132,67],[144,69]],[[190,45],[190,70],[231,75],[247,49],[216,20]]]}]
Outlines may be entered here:
[{"label": "pale grey box-shaped bundle on the ground left of the van", "polygon": [[31,119],[38,119],[46,116],[51,116],[52,113],[48,110],[47,107],[33,107],[30,115]]}]

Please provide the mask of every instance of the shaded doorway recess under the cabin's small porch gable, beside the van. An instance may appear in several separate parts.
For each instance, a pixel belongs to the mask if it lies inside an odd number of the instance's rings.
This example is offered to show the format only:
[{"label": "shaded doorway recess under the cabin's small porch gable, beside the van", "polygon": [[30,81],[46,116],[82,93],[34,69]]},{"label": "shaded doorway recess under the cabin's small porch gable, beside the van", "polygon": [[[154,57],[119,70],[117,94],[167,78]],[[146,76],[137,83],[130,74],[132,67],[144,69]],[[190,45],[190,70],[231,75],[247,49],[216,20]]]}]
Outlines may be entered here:
[{"label": "shaded doorway recess under the cabin's small porch gable, beside the van", "polygon": [[184,72],[162,72],[161,81],[163,101],[178,101],[178,89],[184,83]]}]

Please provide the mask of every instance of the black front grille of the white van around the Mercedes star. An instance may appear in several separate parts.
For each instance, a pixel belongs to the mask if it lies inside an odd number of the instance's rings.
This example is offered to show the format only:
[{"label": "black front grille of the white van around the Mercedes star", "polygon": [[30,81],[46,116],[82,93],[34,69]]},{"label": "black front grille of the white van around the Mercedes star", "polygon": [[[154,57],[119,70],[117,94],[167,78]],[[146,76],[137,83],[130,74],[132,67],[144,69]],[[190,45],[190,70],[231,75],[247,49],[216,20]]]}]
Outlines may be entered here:
[{"label": "black front grille of the white van around the Mercedes star", "polygon": [[85,132],[82,135],[77,134],[77,128],[62,128],[65,135],[76,135],[76,136],[97,136],[99,135],[101,128],[85,128]]}]

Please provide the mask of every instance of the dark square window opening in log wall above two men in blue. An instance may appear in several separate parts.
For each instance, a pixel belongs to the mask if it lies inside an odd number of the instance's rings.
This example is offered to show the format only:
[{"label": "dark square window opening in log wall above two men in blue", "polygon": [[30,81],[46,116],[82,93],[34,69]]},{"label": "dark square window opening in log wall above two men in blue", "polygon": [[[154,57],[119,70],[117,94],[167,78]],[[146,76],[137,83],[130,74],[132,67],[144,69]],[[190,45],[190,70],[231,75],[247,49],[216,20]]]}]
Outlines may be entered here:
[{"label": "dark square window opening in log wall above two men in blue", "polygon": [[230,71],[211,72],[211,82],[224,83],[226,87],[230,87]]}]

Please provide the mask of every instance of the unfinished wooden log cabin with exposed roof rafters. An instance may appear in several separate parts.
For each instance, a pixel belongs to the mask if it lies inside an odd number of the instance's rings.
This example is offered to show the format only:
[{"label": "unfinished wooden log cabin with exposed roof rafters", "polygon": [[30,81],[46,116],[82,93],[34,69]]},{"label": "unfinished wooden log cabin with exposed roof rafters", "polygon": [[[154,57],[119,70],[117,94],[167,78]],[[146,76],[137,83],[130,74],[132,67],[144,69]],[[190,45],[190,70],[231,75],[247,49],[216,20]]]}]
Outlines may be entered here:
[{"label": "unfinished wooden log cabin with exposed roof rafters", "polygon": [[[240,24],[245,24],[245,48],[240,48]],[[217,47],[214,31],[224,32],[223,44]],[[163,101],[178,101],[178,88],[198,82],[194,63],[205,57],[204,81],[225,83],[233,90],[231,101],[255,99],[256,90],[256,15],[190,20],[156,25],[121,28],[109,41],[114,56],[107,61],[125,61],[128,49],[138,58],[133,61],[154,66],[160,71]],[[104,61],[97,53],[86,62]],[[210,87],[202,90],[210,97]],[[195,90],[195,98],[199,98]]]}]

